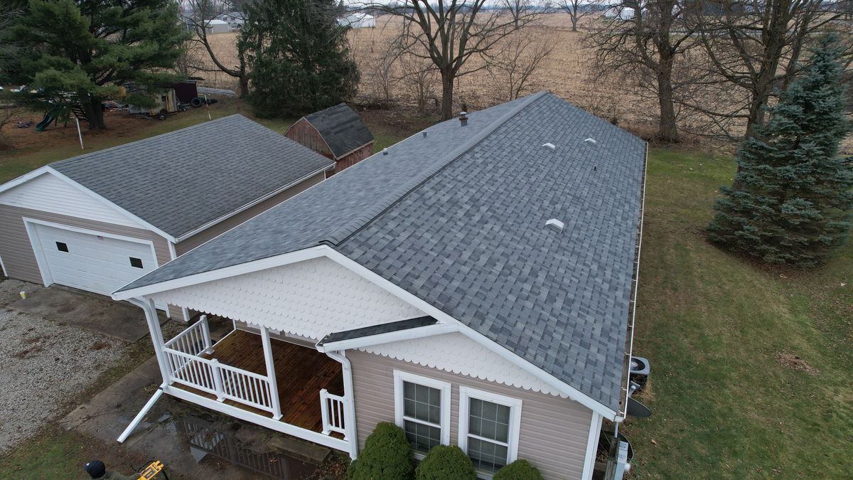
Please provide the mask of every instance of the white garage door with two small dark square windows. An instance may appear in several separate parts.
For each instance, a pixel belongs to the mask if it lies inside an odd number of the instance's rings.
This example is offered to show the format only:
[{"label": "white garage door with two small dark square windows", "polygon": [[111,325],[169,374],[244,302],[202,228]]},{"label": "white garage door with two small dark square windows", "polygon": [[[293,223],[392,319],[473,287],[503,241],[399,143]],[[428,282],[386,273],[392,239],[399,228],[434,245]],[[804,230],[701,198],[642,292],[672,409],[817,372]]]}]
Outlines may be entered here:
[{"label": "white garage door with two small dark square windows", "polygon": [[55,284],[109,295],[157,267],[150,243],[30,224],[39,264]]}]

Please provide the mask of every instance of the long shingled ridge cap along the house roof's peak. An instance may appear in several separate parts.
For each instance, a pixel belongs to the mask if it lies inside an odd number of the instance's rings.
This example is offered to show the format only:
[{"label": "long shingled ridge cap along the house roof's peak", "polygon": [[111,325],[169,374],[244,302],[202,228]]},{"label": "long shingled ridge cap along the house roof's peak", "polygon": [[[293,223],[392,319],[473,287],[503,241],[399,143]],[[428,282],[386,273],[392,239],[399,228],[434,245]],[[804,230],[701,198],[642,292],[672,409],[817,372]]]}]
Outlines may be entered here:
[{"label": "long shingled ridge cap along the house roof's peak", "polygon": [[[445,167],[453,163],[453,161],[459,158],[462,154],[485,140],[485,138],[490,137],[490,135],[495,132],[497,128],[507,123],[515,115],[519,114],[519,112],[529,107],[533,102],[536,102],[538,99],[544,97],[547,93],[548,92],[546,91],[539,91],[529,97],[526,97],[525,100],[523,102],[520,102],[518,106],[511,109],[507,113],[502,114],[500,117],[498,117],[488,126],[486,126],[482,131],[474,134],[470,139],[468,139],[466,143],[462,143],[459,147],[452,150],[450,154],[445,155],[440,161],[432,163],[432,165],[430,165],[429,167],[426,167],[425,169],[421,170],[420,174],[415,175],[412,179],[409,179],[408,182],[399,185],[397,189],[392,190],[392,193],[380,199],[379,202],[374,203],[373,208],[369,208],[366,212],[364,212],[364,214],[357,215],[349,222],[340,226],[338,229],[329,232],[329,234],[319,243],[330,243],[333,245],[339,245],[340,243],[343,243],[347,238],[351,237],[352,234],[361,230],[365,225],[368,225],[371,221],[380,217],[380,215],[383,214],[388,208],[391,208],[397,202],[401,201],[405,196],[407,196],[410,192],[418,188],[427,180],[432,179],[433,176],[435,176]],[[446,121],[453,120],[454,119],[450,119]]]}]

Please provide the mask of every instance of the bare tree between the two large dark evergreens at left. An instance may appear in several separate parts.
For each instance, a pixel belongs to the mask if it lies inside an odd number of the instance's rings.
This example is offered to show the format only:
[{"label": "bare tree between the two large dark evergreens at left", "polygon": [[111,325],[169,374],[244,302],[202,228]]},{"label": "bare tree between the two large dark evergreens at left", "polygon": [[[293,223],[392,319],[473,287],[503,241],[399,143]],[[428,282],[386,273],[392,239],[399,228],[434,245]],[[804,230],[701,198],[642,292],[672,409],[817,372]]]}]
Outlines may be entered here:
[{"label": "bare tree between the two large dark evergreens at left", "polygon": [[189,10],[183,13],[183,20],[189,28],[195,31],[195,38],[190,40],[202,45],[210,56],[213,65],[212,69],[206,66],[194,66],[202,72],[223,72],[231,77],[235,77],[239,83],[238,94],[241,98],[246,97],[249,93],[249,71],[246,55],[246,43],[243,41],[242,33],[237,33],[237,65],[226,65],[220,61],[216,52],[211,47],[210,40],[207,38],[208,29],[210,28],[211,20],[216,19],[223,13],[234,11],[235,5],[229,0],[185,0],[189,6]]}]

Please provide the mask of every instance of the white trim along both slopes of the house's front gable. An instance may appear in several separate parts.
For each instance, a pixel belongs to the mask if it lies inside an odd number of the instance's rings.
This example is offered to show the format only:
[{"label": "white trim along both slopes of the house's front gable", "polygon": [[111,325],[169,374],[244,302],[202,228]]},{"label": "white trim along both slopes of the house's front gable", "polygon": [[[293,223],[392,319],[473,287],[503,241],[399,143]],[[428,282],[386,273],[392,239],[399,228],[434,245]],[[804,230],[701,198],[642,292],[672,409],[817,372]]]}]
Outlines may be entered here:
[{"label": "white trim along both slopes of the house's front gable", "polygon": [[268,268],[273,268],[276,266],[284,266],[291,263],[296,263],[298,261],[309,260],[322,256],[327,257],[330,260],[334,260],[341,266],[349,268],[352,272],[361,275],[363,278],[366,278],[371,283],[379,286],[384,290],[387,290],[393,296],[397,296],[397,298],[399,298],[400,300],[406,301],[412,307],[415,307],[421,310],[421,312],[426,313],[427,315],[430,315],[435,319],[438,319],[440,323],[444,323],[447,325],[456,325],[458,331],[460,331],[466,337],[469,337],[473,341],[478,342],[485,348],[489,348],[492,352],[495,352],[496,354],[500,355],[505,360],[509,360],[510,362],[519,366],[526,372],[531,373],[531,375],[542,379],[543,382],[548,383],[548,385],[550,385],[560,393],[563,393],[564,395],[568,396],[573,401],[577,401],[584,407],[587,407],[594,412],[601,413],[604,418],[615,421],[619,417],[617,412],[613,411],[609,407],[602,405],[599,401],[593,400],[591,397],[589,397],[589,395],[583,394],[583,392],[581,392],[580,390],[575,389],[571,385],[561,381],[550,373],[543,371],[543,369],[539,368],[538,366],[534,366],[530,361],[525,360],[519,357],[519,355],[509,351],[508,348],[505,348],[502,345],[491,341],[488,337],[485,337],[485,335],[473,330],[467,325],[462,324],[459,320],[454,319],[447,313],[444,313],[438,308],[433,307],[427,301],[424,301],[420,297],[409,293],[409,291],[404,290],[397,284],[393,284],[391,281],[372,272],[367,267],[362,266],[355,260],[351,260],[346,255],[343,255],[337,250],[332,249],[328,245],[317,245],[308,249],[295,250],[287,254],[276,255],[260,260],[253,260],[247,263],[242,263],[240,265],[226,266],[224,268],[212,270],[210,272],[201,272],[183,278],[175,278],[173,280],[167,280],[158,284],[150,284],[142,287],[137,287],[135,289],[116,291],[113,292],[113,299],[126,300],[138,296],[148,296],[165,290],[174,290],[194,284],[201,284],[205,282],[219,280],[222,278],[234,277],[236,275],[241,275],[244,273],[258,272],[260,270],[266,270]]}]

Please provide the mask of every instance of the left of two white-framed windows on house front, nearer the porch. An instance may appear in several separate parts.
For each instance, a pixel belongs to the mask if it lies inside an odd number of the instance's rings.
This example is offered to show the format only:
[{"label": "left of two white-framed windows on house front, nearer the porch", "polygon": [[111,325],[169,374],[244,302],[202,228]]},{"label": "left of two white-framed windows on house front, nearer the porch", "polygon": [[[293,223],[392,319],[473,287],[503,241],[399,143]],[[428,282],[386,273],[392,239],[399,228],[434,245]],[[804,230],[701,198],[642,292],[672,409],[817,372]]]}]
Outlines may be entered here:
[{"label": "left of two white-framed windows on house front, nearer the porch", "polygon": [[412,449],[450,443],[450,383],[394,371],[394,416]]}]

